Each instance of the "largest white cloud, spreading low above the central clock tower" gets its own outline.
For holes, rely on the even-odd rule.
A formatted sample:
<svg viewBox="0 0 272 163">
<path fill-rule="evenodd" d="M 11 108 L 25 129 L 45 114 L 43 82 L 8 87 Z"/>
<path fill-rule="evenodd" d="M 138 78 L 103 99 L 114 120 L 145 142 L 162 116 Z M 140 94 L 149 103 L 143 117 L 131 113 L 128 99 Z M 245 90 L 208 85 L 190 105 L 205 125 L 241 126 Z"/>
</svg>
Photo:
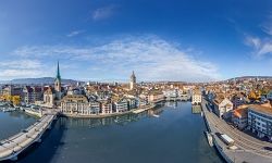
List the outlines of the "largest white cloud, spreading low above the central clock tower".
<svg viewBox="0 0 272 163">
<path fill-rule="evenodd" d="M 183 50 L 175 42 L 148 35 L 123 37 L 101 46 L 22 47 L 13 54 L 41 60 L 61 57 L 62 61 L 77 63 L 77 77 L 81 78 L 107 78 L 112 74 L 124 78 L 133 70 L 143 80 L 201 82 L 221 77 L 214 64 L 196 58 L 193 52 L 191 49 Z M 91 71 L 86 73 L 87 70 Z"/>
</svg>

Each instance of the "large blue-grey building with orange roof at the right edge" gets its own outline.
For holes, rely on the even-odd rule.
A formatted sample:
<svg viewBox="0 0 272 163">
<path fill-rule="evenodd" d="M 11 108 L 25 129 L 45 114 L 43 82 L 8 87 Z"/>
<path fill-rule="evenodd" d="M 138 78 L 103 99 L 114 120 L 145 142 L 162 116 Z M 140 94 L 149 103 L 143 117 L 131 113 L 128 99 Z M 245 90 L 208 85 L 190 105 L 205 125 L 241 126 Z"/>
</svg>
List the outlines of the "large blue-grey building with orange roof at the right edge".
<svg viewBox="0 0 272 163">
<path fill-rule="evenodd" d="M 268 137 L 272 141 L 272 108 L 250 105 L 248 108 L 248 128 L 258 137 Z"/>
</svg>

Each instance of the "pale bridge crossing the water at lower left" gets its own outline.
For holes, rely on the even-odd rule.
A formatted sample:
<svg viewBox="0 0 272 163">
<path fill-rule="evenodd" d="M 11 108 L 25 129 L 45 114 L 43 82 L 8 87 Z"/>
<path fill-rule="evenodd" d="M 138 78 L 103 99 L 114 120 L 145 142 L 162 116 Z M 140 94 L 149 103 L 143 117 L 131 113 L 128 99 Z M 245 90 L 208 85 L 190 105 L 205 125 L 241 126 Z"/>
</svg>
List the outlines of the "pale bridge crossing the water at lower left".
<svg viewBox="0 0 272 163">
<path fill-rule="evenodd" d="M 57 114 L 45 114 L 21 133 L 0 141 L 0 161 L 17 160 L 17 155 L 35 142 L 41 142 L 42 134 L 51 127 Z"/>
</svg>

